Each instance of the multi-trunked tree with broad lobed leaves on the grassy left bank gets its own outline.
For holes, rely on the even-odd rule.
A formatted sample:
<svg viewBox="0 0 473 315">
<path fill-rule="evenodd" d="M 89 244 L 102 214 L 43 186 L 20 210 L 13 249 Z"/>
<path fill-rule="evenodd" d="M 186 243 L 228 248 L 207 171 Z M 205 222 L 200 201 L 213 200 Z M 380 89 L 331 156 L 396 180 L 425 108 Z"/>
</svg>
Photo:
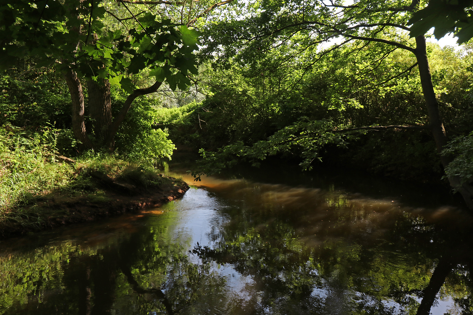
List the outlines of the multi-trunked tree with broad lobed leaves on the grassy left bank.
<svg viewBox="0 0 473 315">
<path fill-rule="evenodd" d="M 198 73 L 194 51 L 199 49 L 199 33 L 189 27 L 210 10 L 231 1 L 216 3 L 203 12 L 192 11 L 193 1 L 189 1 L 186 23 L 175 23 L 161 16 L 159 10 L 152 14 L 147 7 L 138 13 L 136 8 L 129 8 L 139 4 L 169 5 L 167 1 L 9 2 L 0 3 L 0 25 L 3 26 L 0 29 L 0 67 L 11 66 L 16 56 L 29 55 L 34 56 L 39 66 L 59 68 L 71 95 L 74 136 L 84 149 L 105 146 L 113 150 L 114 135 L 138 96 L 156 92 L 164 81 L 172 90 L 185 89 L 190 84 L 188 74 Z M 176 2 L 178 4 L 182 5 L 183 13 L 186 1 Z M 118 17 L 123 12 L 128 16 Z M 110 17 L 117 22 L 114 27 L 104 24 Z M 117 27 L 119 23 L 128 34 Z M 135 88 L 131 78 L 144 69 L 149 70 L 150 77 L 155 77 L 154 83 Z M 95 144 L 85 126 L 81 78 L 87 81 Z M 110 85 L 119 85 L 129 93 L 113 119 Z"/>
</svg>

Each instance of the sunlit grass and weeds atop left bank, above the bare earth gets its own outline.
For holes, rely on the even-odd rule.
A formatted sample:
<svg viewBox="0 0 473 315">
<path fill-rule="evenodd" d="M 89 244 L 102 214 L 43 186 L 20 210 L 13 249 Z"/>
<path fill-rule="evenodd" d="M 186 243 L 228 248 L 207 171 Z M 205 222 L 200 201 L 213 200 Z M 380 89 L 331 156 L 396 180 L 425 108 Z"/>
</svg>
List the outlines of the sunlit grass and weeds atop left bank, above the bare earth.
<svg viewBox="0 0 473 315">
<path fill-rule="evenodd" d="M 0 134 L 0 222 L 39 224 L 39 217 L 31 218 L 33 213 L 28 209 L 48 196 L 88 195 L 92 202 L 106 201 L 103 188 L 89 175 L 91 170 L 141 188 L 166 189 L 175 181 L 150 165 L 110 154 L 89 152 L 71 165 L 56 162 L 44 143 L 44 135 L 25 138 L 12 132 Z"/>
</svg>

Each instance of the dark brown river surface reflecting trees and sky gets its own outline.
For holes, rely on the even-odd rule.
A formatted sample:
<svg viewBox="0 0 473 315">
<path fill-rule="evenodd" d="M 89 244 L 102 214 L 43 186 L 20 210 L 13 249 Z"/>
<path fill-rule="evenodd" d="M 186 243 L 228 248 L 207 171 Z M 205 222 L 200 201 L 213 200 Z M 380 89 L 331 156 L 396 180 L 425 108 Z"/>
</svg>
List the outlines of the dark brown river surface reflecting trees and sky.
<svg viewBox="0 0 473 315">
<path fill-rule="evenodd" d="M 160 208 L 1 241 L 0 314 L 473 312 L 473 220 L 441 187 L 183 170 Z"/>
</svg>

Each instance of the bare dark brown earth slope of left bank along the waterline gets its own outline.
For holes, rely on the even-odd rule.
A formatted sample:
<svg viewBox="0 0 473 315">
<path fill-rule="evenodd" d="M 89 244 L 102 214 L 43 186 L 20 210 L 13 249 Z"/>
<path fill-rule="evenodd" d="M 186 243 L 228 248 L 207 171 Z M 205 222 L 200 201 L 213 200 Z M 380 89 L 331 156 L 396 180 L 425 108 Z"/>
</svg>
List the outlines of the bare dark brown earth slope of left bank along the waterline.
<svg viewBox="0 0 473 315">
<path fill-rule="evenodd" d="M 99 196 L 94 193 L 79 196 L 61 194 L 48 196 L 27 208 L 18 218 L 0 221 L 0 238 L 158 207 L 181 198 L 188 189 L 189 186 L 182 182 L 166 189 L 156 187 L 153 190 L 141 190 L 134 195 L 105 189 Z"/>
</svg>

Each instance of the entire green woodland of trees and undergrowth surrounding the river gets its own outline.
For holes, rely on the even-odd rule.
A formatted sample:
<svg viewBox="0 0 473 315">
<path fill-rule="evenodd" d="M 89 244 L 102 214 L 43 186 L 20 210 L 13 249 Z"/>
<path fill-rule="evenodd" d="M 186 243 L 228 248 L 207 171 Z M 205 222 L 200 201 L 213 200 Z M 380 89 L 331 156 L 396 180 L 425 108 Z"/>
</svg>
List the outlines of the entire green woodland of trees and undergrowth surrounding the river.
<svg viewBox="0 0 473 315">
<path fill-rule="evenodd" d="M 1 216 L 95 189 L 90 170 L 152 182 L 175 145 L 200 151 L 197 178 L 276 155 L 440 183 L 471 207 L 469 5 L 2 1 Z M 432 26 L 463 46 L 426 43 Z"/>
</svg>

